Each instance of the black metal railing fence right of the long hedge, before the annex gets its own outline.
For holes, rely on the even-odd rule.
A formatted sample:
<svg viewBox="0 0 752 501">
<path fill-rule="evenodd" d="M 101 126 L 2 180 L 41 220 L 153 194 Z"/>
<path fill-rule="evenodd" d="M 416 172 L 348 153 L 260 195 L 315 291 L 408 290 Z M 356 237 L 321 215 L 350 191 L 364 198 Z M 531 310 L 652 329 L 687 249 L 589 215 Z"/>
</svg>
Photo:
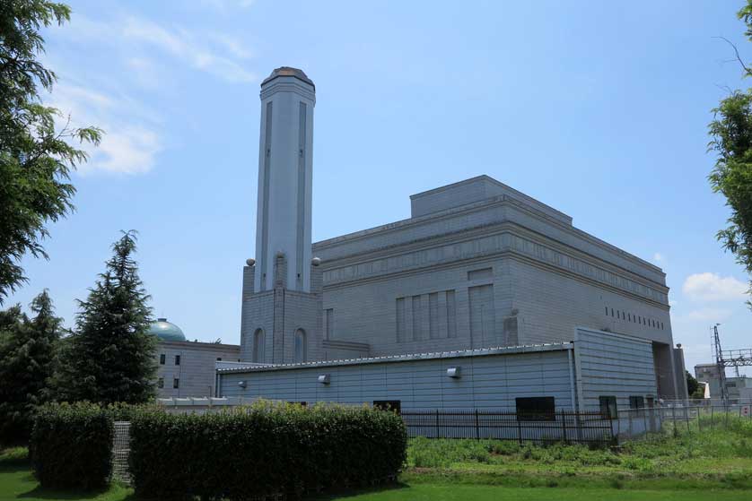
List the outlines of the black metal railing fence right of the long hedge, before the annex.
<svg viewBox="0 0 752 501">
<path fill-rule="evenodd" d="M 523 442 L 605 445 L 615 440 L 613 420 L 600 412 L 560 410 L 518 414 L 503 410 L 403 410 L 408 436 L 494 438 Z"/>
</svg>

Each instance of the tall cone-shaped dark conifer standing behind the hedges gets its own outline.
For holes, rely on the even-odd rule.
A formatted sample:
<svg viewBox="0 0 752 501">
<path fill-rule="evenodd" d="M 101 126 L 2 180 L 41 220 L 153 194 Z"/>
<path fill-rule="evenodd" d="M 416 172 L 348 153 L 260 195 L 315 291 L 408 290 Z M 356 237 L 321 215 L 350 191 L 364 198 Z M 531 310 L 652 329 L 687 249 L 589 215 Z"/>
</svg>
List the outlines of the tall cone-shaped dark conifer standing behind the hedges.
<svg viewBox="0 0 752 501">
<path fill-rule="evenodd" d="M 136 235 L 124 232 L 106 271 L 89 289 L 75 332 L 61 342 L 53 391 L 58 401 L 148 402 L 154 397 L 156 340 L 138 265 Z"/>
</svg>

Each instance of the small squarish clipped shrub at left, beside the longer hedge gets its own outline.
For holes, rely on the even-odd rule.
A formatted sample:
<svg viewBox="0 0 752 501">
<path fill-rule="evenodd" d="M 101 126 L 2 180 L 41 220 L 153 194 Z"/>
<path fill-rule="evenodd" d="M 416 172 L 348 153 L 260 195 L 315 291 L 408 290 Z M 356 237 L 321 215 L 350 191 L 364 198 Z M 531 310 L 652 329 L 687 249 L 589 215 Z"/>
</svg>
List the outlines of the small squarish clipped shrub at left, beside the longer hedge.
<svg viewBox="0 0 752 501">
<path fill-rule="evenodd" d="M 48 488 L 100 488 L 112 470 L 112 419 L 91 403 L 39 408 L 31 431 L 31 465 Z"/>
</svg>

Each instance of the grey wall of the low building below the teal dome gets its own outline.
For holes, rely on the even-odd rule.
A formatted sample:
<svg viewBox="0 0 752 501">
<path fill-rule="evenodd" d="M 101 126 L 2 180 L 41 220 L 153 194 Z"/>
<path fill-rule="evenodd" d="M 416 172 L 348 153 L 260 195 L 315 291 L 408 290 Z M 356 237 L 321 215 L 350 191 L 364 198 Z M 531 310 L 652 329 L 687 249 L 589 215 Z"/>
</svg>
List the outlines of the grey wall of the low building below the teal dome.
<svg viewBox="0 0 752 501">
<path fill-rule="evenodd" d="M 164 355 L 164 365 L 160 356 Z M 175 357 L 180 356 L 180 365 Z M 155 353 L 157 379 L 164 381 L 157 388 L 159 398 L 211 397 L 214 396 L 217 358 L 225 361 L 240 359 L 240 347 L 232 344 L 215 344 L 191 341 L 160 341 Z M 173 380 L 179 379 L 179 388 L 173 388 Z"/>
</svg>

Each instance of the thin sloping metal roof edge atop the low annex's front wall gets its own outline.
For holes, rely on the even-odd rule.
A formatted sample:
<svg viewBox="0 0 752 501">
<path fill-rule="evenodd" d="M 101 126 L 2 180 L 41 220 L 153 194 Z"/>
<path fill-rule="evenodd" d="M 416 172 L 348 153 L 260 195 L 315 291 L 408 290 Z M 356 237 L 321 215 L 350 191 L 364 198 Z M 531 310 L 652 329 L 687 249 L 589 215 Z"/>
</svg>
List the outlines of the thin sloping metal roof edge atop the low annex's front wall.
<svg viewBox="0 0 752 501">
<path fill-rule="evenodd" d="M 520 353 L 537 353 L 541 351 L 572 350 L 572 342 L 557 342 L 548 344 L 529 344 L 525 346 L 501 346 L 498 348 L 480 348 L 477 350 L 436 351 L 432 353 L 407 353 L 404 355 L 387 355 L 383 357 L 344 358 L 340 360 L 319 360 L 317 362 L 301 362 L 295 364 L 272 364 L 266 367 L 233 367 L 217 369 L 218 373 L 246 373 L 266 372 L 270 370 L 289 370 L 308 367 L 337 367 L 363 364 L 382 364 L 387 362 L 409 362 L 434 358 L 465 358 L 484 357 L 487 355 L 515 355 Z"/>
</svg>

